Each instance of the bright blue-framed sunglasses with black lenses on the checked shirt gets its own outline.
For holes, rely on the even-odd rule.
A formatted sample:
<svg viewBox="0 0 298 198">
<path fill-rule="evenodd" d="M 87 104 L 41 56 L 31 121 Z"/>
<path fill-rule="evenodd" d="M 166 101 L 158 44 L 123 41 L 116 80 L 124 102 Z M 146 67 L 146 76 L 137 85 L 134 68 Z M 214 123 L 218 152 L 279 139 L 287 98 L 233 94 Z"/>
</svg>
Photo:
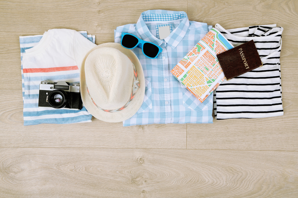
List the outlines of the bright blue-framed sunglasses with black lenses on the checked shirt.
<svg viewBox="0 0 298 198">
<path fill-rule="evenodd" d="M 128 33 L 122 33 L 121 45 L 127 49 L 140 47 L 143 54 L 148 58 L 156 58 L 162 52 L 162 48 L 154 43 L 144 41 Z"/>
</svg>

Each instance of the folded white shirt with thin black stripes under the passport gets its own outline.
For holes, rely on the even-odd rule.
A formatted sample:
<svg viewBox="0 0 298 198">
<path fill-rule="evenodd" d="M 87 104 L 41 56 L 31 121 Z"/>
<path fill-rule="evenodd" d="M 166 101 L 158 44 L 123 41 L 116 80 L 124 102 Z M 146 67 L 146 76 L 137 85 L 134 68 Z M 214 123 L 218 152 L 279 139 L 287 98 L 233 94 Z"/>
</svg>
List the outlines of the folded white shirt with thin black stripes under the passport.
<svg viewBox="0 0 298 198">
<path fill-rule="evenodd" d="M 214 91 L 216 119 L 265 118 L 283 115 L 280 49 L 282 27 L 249 26 L 226 30 L 217 28 L 234 47 L 254 40 L 263 66 L 224 80 Z"/>
</svg>

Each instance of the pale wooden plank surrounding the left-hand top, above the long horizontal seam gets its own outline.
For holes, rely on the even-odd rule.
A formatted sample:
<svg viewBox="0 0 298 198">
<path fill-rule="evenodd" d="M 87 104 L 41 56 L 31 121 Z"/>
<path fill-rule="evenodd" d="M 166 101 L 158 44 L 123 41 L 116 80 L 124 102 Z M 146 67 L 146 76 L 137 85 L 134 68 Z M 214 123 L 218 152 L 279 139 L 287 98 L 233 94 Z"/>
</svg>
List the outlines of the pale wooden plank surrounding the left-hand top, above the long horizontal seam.
<svg viewBox="0 0 298 198">
<path fill-rule="evenodd" d="M 75 125 L 23 126 L 18 39 L 43 34 L 52 28 L 70 28 L 96 35 L 96 44 L 113 42 L 114 29 L 136 23 L 141 12 L 154 9 L 156 5 L 159 9 L 187 11 L 187 4 L 180 6 L 182 2 L 1 1 L 0 128 L 3 141 L 0 147 L 186 148 L 186 124 L 123 128 L 122 123 L 105 123 L 93 118 L 92 123 Z"/>
</svg>

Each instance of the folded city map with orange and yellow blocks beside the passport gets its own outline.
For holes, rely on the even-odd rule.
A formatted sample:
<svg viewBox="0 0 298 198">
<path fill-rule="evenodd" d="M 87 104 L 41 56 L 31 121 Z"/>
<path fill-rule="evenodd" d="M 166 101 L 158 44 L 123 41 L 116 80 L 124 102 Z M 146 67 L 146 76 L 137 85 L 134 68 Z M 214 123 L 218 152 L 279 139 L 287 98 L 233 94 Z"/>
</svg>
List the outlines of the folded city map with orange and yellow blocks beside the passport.
<svg viewBox="0 0 298 198">
<path fill-rule="evenodd" d="M 171 73 L 203 102 L 226 79 L 216 55 L 232 48 L 233 45 L 212 28 Z"/>
</svg>

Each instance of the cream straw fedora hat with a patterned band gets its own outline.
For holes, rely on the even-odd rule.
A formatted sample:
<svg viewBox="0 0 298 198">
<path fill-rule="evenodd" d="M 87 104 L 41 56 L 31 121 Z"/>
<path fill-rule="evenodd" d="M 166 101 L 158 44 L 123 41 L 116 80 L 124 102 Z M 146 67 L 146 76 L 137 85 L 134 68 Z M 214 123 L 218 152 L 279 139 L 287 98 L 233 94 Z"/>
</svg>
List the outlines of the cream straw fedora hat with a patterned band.
<svg viewBox="0 0 298 198">
<path fill-rule="evenodd" d="M 131 118 L 145 94 L 142 65 L 119 43 L 103 43 L 85 56 L 80 71 L 81 97 L 86 109 L 105 122 Z"/>
</svg>

